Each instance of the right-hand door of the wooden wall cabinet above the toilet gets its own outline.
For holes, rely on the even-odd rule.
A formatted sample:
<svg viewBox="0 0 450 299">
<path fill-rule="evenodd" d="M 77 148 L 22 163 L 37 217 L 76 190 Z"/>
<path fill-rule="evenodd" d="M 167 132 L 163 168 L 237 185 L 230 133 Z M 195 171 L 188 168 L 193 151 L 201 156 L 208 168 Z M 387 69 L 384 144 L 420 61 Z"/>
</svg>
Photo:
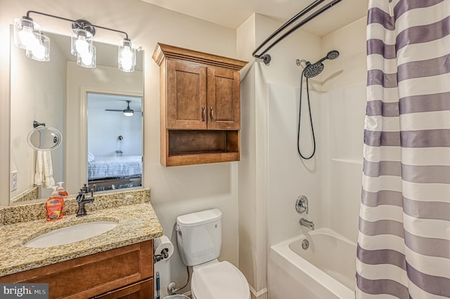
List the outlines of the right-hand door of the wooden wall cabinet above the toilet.
<svg viewBox="0 0 450 299">
<path fill-rule="evenodd" d="M 240 129 L 240 75 L 238 71 L 208 67 L 208 128 Z"/>
</svg>

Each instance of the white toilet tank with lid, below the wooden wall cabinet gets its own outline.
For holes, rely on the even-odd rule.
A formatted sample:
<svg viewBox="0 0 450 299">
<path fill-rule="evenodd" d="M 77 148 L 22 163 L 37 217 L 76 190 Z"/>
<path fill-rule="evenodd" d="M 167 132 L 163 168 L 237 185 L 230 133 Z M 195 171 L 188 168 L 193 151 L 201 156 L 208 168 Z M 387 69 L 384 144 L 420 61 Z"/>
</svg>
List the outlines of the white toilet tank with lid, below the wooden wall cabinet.
<svg viewBox="0 0 450 299">
<path fill-rule="evenodd" d="M 222 213 L 218 208 L 176 218 L 176 241 L 186 266 L 200 265 L 220 255 Z"/>
</svg>

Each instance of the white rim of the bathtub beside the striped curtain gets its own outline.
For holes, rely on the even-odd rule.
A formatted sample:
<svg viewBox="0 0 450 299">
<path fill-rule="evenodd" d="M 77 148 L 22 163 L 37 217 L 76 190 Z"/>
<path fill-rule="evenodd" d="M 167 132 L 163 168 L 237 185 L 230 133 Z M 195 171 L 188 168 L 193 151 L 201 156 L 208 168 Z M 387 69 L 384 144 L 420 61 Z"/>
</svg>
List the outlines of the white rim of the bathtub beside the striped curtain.
<svg viewBox="0 0 450 299">
<path fill-rule="evenodd" d="M 330 236 L 336 237 L 337 239 L 342 239 L 342 241 L 348 242 L 349 244 L 356 244 L 349 239 L 343 237 L 342 235 L 338 234 L 337 232 L 334 232 L 333 230 L 330 230 L 328 228 L 319 228 L 317 230 L 314 230 L 310 232 L 310 235 L 314 234 L 328 234 Z M 300 257 L 300 255 L 297 255 L 297 253 L 293 252 L 289 248 L 289 244 L 293 243 L 294 241 L 298 241 L 301 239 L 306 238 L 304 234 L 300 234 L 297 237 L 293 237 L 290 239 L 287 239 L 285 241 L 281 241 L 278 244 L 275 244 L 274 246 L 271 246 L 271 251 L 274 251 L 278 253 L 278 255 L 281 255 L 285 259 L 286 262 L 293 265 L 293 267 L 297 268 L 298 270 L 306 273 L 311 279 L 317 282 L 317 284 L 320 284 L 323 288 L 326 288 L 330 293 L 333 293 L 337 296 L 337 298 L 347 299 L 347 298 L 354 298 L 354 291 L 352 291 L 350 288 L 347 288 L 347 286 L 341 284 L 339 281 L 334 279 L 333 277 L 330 277 L 330 275 L 326 274 L 326 272 L 323 272 L 318 267 L 314 266 L 313 264 L 309 263 L 304 258 Z M 356 259 L 356 256 L 355 256 Z M 292 261 L 292 262 L 290 262 Z M 356 272 L 356 270 L 355 270 Z M 313 290 L 316 291 L 316 290 Z"/>
</svg>

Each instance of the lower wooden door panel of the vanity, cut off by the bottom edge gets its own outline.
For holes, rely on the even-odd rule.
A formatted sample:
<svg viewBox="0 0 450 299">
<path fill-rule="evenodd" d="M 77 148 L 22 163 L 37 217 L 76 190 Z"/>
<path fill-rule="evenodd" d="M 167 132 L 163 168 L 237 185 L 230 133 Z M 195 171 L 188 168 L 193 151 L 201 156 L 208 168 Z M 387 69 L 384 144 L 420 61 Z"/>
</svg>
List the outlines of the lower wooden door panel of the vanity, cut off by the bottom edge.
<svg viewBox="0 0 450 299">
<path fill-rule="evenodd" d="M 97 295 L 94 299 L 151 299 L 153 298 L 153 279 L 147 279 L 131 286 Z"/>
</svg>

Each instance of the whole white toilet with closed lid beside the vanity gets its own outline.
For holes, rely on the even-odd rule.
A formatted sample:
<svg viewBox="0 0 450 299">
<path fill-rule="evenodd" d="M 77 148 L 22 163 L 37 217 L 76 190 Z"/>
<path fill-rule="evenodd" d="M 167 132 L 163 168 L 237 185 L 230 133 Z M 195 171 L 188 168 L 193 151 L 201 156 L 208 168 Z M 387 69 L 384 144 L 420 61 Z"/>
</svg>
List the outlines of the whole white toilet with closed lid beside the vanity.
<svg viewBox="0 0 450 299">
<path fill-rule="evenodd" d="M 219 262 L 222 213 L 218 208 L 176 218 L 181 260 L 193 266 L 193 299 L 250 299 L 247 279 L 233 264 Z"/>
</svg>

